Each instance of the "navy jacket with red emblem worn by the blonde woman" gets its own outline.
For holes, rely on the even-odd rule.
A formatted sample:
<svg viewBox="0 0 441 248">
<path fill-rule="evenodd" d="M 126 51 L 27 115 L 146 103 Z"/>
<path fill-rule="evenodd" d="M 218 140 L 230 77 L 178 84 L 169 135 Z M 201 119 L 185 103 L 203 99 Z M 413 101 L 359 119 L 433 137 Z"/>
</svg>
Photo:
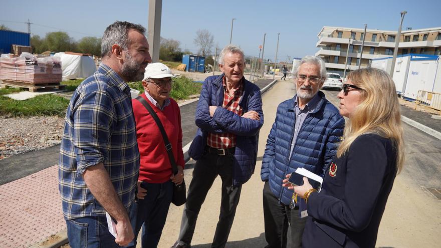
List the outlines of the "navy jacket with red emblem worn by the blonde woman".
<svg viewBox="0 0 441 248">
<path fill-rule="evenodd" d="M 396 175 L 391 140 L 364 134 L 334 158 L 320 193 L 308 198 L 304 247 L 375 247 Z"/>
</svg>

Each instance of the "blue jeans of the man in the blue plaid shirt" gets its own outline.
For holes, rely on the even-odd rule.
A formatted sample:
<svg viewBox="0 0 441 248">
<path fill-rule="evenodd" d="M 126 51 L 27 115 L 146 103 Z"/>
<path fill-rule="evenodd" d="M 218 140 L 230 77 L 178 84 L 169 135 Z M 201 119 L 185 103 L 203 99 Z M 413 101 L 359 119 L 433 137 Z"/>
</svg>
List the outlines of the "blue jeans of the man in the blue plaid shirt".
<svg viewBox="0 0 441 248">
<path fill-rule="evenodd" d="M 110 234 L 105 216 L 87 216 L 66 220 L 67 236 L 72 248 L 120 247 Z"/>
</svg>

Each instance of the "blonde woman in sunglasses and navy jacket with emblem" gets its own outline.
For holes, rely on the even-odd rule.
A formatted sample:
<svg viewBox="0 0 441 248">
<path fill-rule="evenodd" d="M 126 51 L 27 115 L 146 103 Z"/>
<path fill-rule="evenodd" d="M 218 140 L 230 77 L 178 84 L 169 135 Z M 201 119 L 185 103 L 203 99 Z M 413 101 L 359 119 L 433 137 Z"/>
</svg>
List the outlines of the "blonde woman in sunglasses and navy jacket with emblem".
<svg viewBox="0 0 441 248">
<path fill-rule="evenodd" d="M 320 192 L 304 178 L 294 189 L 307 202 L 304 247 L 374 247 L 395 176 L 404 160 L 398 99 L 384 71 L 366 68 L 348 75 L 337 95 L 348 117 L 337 155 Z"/>
</svg>

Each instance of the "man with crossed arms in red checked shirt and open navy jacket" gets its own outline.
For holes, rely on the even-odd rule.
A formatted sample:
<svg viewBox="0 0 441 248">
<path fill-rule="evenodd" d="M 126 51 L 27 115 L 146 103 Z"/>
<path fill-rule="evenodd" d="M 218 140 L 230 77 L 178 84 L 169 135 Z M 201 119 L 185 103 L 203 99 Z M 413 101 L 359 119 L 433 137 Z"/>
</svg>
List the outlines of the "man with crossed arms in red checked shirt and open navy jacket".
<svg viewBox="0 0 441 248">
<path fill-rule="evenodd" d="M 196 109 L 199 129 L 189 155 L 197 161 L 175 248 L 190 247 L 197 215 L 217 175 L 222 179 L 222 202 L 211 247 L 225 247 L 242 184 L 256 165 L 264 123 L 260 89 L 244 77 L 245 57 L 240 48 L 225 47 L 219 67 L 223 74 L 205 79 Z"/>
</svg>

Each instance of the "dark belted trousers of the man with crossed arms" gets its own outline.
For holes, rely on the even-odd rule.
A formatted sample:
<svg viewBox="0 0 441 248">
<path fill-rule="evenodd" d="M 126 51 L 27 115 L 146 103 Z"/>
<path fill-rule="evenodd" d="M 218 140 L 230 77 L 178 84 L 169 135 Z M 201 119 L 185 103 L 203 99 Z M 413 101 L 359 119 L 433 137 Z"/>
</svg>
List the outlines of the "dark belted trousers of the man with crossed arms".
<svg viewBox="0 0 441 248">
<path fill-rule="evenodd" d="M 217 222 L 211 247 L 225 247 L 242 189 L 242 185 L 233 186 L 234 159 L 233 155 L 230 154 L 220 156 L 205 153 L 196 161 L 193 179 L 188 188 L 187 202 L 182 213 L 178 239 L 181 245 L 190 245 L 200 207 L 208 190 L 213 185 L 214 179 L 219 175 L 222 179 L 222 200 L 220 202 L 219 221 Z"/>
</svg>

